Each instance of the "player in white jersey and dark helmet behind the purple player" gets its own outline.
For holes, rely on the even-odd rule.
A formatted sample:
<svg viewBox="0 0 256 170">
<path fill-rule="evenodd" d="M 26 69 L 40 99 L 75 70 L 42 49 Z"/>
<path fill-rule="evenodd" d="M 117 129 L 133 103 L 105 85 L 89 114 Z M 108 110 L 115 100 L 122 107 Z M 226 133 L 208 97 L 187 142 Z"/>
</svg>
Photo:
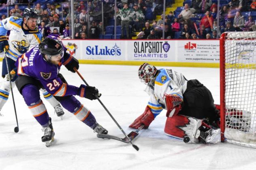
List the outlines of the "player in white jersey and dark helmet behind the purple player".
<svg viewBox="0 0 256 170">
<path fill-rule="evenodd" d="M 3 52 L 4 48 L 6 49 L 10 72 L 15 68 L 14 64 L 18 56 L 41 42 L 43 37 L 37 28 L 38 23 L 40 23 L 39 14 L 32 8 L 25 8 L 23 18 L 9 17 L 0 21 L 0 52 Z M 10 30 L 9 38 L 6 36 L 8 30 Z M 2 77 L 4 81 L 0 85 L 0 110 L 8 100 L 11 91 L 6 75 L 8 75 L 6 60 L 3 60 Z M 12 82 L 12 87 L 15 87 L 14 82 Z M 62 116 L 64 112 L 60 103 L 45 89 L 41 89 L 41 91 L 45 99 L 54 107 L 57 116 Z"/>
</svg>

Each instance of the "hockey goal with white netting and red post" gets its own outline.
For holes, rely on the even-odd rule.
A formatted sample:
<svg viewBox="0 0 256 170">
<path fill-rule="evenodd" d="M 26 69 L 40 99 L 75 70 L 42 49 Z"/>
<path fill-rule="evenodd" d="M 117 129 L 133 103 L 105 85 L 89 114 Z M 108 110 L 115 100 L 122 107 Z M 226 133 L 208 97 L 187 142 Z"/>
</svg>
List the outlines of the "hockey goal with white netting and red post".
<svg viewBox="0 0 256 170">
<path fill-rule="evenodd" d="M 220 38 L 221 140 L 256 147 L 256 32 Z"/>
</svg>

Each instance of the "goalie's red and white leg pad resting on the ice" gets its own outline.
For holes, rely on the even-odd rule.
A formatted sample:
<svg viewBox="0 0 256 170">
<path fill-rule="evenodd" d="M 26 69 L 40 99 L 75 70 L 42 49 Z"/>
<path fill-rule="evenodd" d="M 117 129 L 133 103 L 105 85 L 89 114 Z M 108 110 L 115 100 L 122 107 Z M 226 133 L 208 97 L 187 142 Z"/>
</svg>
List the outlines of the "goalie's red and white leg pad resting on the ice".
<svg viewBox="0 0 256 170">
<path fill-rule="evenodd" d="M 193 117 L 176 115 L 173 117 L 168 117 L 166 119 L 164 133 L 166 135 L 177 137 L 183 139 L 189 137 L 190 142 L 198 143 L 198 137 L 200 131 L 198 128 L 202 125 L 201 119 L 196 119 Z"/>
</svg>

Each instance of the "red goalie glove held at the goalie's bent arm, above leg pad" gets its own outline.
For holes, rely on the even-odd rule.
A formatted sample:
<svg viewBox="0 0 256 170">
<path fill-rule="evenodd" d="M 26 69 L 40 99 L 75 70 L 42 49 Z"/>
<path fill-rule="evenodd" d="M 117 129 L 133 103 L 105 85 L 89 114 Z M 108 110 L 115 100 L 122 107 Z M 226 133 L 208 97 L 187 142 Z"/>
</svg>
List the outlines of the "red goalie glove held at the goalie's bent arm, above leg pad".
<svg viewBox="0 0 256 170">
<path fill-rule="evenodd" d="M 181 110 L 181 97 L 177 95 L 165 94 L 165 103 L 167 107 L 166 117 L 173 117 Z"/>
</svg>

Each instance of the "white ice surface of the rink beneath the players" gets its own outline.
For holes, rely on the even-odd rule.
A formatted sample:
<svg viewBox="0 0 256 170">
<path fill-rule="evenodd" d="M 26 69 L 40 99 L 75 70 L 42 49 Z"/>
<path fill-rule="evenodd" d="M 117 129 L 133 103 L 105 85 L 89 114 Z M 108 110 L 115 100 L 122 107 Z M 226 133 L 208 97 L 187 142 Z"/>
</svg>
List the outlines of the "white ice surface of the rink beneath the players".
<svg viewBox="0 0 256 170">
<path fill-rule="evenodd" d="M 2 62 L 0 66 L 2 68 Z M 80 64 L 79 68 L 87 83 L 102 93 L 100 100 L 127 134 L 131 131 L 128 126 L 144 112 L 149 99 L 144 91 L 146 85 L 137 76 L 138 69 L 139 66 L 87 64 Z M 215 103 L 220 103 L 219 68 L 172 69 L 183 73 L 186 79 L 198 79 L 212 92 Z M 83 83 L 76 73 L 64 66 L 60 73 L 71 85 L 79 87 Z M 67 110 L 60 120 L 43 99 L 56 139 L 51 147 L 45 147 L 41 142 L 41 126 L 16 87 L 14 97 L 19 133 L 14 132 L 16 120 L 10 95 L 0 111 L 4 115 L 0 117 L 0 170 L 254 170 L 256 167 L 256 149 L 230 143 L 186 144 L 165 135 L 165 110 L 149 129 L 139 132 L 133 141 L 139 147 L 136 151 L 129 143 L 97 138 L 92 129 Z M 124 137 L 97 100 L 79 96 L 77 99 L 91 110 L 109 134 Z"/>
</svg>

